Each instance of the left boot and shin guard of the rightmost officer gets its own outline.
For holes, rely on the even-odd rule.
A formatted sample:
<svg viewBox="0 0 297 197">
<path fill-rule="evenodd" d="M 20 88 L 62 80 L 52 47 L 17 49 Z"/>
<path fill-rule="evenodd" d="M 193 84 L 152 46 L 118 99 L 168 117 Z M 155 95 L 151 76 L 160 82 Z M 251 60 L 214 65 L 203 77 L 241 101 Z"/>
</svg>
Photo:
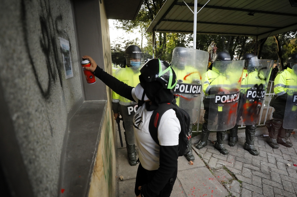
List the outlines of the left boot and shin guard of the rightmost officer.
<svg viewBox="0 0 297 197">
<path fill-rule="evenodd" d="M 272 148 L 279 148 L 279 145 L 277 144 L 277 135 L 280 127 L 282 126 L 282 121 L 277 120 L 268 120 L 265 122 L 265 126 L 268 129 L 269 136 L 267 137 L 267 143 Z"/>
</svg>

